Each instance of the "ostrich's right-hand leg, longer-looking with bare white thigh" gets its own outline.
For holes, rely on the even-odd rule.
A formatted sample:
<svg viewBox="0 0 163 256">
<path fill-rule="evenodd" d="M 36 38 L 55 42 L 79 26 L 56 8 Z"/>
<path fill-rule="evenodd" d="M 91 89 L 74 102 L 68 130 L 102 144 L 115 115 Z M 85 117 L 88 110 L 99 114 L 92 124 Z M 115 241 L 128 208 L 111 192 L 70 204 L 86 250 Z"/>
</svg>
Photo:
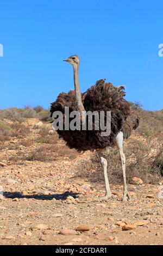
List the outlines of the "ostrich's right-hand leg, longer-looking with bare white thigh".
<svg viewBox="0 0 163 256">
<path fill-rule="evenodd" d="M 123 202 L 127 199 L 130 200 L 129 193 L 127 191 L 127 184 L 126 184 L 126 157 L 123 153 L 123 132 L 119 132 L 116 137 L 116 145 L 120 152 L 121 156 L 121 164 L 122 164 L 122 172 L 123 172 Z"/>
</svg>

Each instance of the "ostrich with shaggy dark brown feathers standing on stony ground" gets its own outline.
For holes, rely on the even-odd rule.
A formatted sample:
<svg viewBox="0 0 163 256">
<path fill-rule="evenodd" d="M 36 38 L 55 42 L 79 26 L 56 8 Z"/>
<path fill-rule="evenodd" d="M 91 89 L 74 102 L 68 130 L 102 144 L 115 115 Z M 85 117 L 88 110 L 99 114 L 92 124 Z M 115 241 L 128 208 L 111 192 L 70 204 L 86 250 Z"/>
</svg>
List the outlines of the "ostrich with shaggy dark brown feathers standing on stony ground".
<svg viewBox="0 0 163 256">
<path fill-rule="evenodd" d="M 126 182 L 126 157 L 123 153 L 123 139 L 127 139 L 132 130 L 139 126 L 139 117 L 130 109 L 129 102 L 123 99 L 125 95 L 124 86 L 115 87 L 111 83 L 105 83 L 105 79 L 98 80 L 95 86 L 81 93 L 79 87 L 79 57 L 73 55 L 64 60 L 73 67 L 74 90 L 69 93 L 60 93 L 57 100 L 51 103 L 51 115 L 55 111 L 61 111 L 65 116 L 65 107 L 70 112 L 78 111 L 82 117 L 82 123 L 86 121 L 85 111 L 111 111 L 111 132 L 109 136 L 101 136 L 101 131 L 89 130 L 57 130 L 68 147 L 78 151 L 96 151 L 101 162 L 105 179 L 105 196 L 100 200 L 107 200 L 111 197 L 110 185 L 107 174 L 106 154 L 111 147 L 116 145 L 122 165 L 123 173 L 123 201 L 130 200 Z M 64 119 L 65 120 L 65 119 Z"/>
</svg>

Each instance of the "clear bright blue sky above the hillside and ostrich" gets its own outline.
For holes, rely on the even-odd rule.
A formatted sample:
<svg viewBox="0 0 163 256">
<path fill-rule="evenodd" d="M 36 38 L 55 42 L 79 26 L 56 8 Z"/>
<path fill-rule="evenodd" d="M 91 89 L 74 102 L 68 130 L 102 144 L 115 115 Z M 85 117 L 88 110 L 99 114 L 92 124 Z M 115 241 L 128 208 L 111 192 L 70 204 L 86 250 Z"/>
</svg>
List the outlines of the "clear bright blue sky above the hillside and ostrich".
<svg viewBox="0 0 163 256">
<path fill-rule="evenodd" d="M 126 99 L 162 109 L 163 2 L 1 0 L 0 108 L 48 108 L 73 89 L 70 64 L 80 57 L 82 92 L 106 78 L 126 85 Z"/>
</svg>

